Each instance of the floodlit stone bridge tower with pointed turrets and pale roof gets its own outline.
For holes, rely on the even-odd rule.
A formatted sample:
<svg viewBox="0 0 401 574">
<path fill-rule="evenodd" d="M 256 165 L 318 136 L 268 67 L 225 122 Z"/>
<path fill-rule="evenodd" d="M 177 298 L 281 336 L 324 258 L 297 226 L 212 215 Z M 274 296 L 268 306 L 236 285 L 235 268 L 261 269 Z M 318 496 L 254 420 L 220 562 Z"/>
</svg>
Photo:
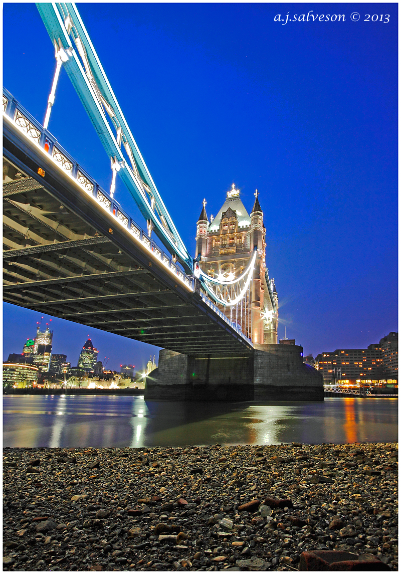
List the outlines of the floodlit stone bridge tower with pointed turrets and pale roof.
<svg viewBox="0 0 401 574">
<path fill-rule="evenodd" d="M 221 309 L 252 343 L 277 344 L 278 296 L 266 268 L 266 228 L 258 195 L 256 190 L 249 215 L 239 189 L 232 184 L 216 217 L 213 219 L 211 215 L 210 223 L 204 200 L 197 221 L 195 257 L 200 256 L 200 267 L 209 277 L 231 281 L 246 270 L 256 248 L 249 291 L 242 302 Z"/>
</svg>

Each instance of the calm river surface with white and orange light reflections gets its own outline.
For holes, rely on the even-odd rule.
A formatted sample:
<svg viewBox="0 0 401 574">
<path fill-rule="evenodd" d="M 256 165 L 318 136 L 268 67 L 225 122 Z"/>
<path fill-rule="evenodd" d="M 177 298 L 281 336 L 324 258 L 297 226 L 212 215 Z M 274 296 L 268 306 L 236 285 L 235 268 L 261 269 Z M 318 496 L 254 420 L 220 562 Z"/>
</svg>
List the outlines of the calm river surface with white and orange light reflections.
<svg viewBox="0 0 401 574">
<path fill-rule="evenodd" d="M 142 396 L 5 395 L 5 447 L 396 441 L 395 398 L 184 403 Z"/>
</svg>

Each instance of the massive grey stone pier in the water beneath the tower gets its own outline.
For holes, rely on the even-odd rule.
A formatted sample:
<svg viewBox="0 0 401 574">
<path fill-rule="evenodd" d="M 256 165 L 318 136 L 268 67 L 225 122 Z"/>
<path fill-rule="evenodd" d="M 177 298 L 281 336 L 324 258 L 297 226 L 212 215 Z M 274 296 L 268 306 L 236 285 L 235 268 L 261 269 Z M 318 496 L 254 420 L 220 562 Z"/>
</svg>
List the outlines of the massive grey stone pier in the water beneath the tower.
<svg viewBox="0 0 401 574">
<path fill-rule="evenodd" d="M 146 378 L 146 400 L 324 401 L 323 377 L 298 345 L 256 345 L 251 355 L 183 355 L 163 349 Z"/>
</svg>

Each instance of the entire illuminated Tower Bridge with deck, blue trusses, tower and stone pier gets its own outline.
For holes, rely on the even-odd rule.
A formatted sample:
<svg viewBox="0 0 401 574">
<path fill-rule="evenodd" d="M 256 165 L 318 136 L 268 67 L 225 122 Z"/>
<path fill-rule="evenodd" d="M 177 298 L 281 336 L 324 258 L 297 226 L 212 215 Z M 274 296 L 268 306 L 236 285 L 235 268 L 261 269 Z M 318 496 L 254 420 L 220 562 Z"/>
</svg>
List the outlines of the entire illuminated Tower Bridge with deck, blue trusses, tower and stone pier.
<svg viewBox="0 0 401 574">
<path fill-rule="evenodd" d="M 323 379 L 303 364 L 302 347 L 277 344 L 257 191 L 250 215 L 234 185 L 214 221 L 204 202 L 193 258 L 76 6 L 37 6 L 56 72 L 43 125 L 3 89 L 5 301 L 162 347 L 148 398 L 323 400 Z M 62 66 L 111 160 L 110 191 L 47 129 Z M 117 174 L 146 231 L 116 201 Z"/>
</svg>

